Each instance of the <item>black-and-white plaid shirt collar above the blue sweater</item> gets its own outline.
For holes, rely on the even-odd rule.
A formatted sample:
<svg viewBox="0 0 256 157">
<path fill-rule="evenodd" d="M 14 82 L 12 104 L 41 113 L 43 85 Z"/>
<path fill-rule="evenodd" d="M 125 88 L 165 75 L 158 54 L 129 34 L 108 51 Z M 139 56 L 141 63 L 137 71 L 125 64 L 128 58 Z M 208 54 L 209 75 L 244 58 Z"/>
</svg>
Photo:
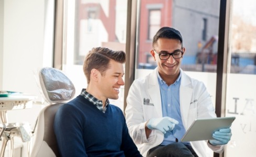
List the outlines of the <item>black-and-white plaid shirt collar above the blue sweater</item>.
<svg viewBox="0 0 256 157">
<path fill-rule="evenodd" d="M 109 100 L 106 100 L 105 108 L 103 108 L 103 104 L 101 100 L 98 100 L 96 97 L 94 97 L 92 94 L 86 92 L 86 89 L 82 89 L 81 95 L 89 100 L 91 103 L 93 103 L 99 110 L 101 110 L 103 113 L 107 110 L 107 107 L 109 105 Z"/>
</svg>

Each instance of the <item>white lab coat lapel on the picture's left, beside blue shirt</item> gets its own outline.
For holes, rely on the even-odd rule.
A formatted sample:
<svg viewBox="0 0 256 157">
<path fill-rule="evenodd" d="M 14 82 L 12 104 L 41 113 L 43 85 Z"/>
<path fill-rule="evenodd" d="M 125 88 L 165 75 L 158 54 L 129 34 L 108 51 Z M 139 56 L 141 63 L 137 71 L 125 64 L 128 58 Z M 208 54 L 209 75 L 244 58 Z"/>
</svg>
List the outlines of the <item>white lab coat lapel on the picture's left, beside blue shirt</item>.
<svg viewBox="0 0 256 157">
<path fill-rule="evenodd" d="M 150 100 L 152 101 L 152 103 L 154 104 L 154 109 L 155 111 L 157 111 L 156 116 L 158 117 L 162 117 L 162 105 L 161 105 L 161 94 L 160 94 L 160 88 L 159 88 L 159 84 L 158 84 L 158 76 L 157 76 L 158 70 L 157 68 L 154 69 L 154 71 L 150 74 L 152 76 L 150 76 L 149 78 L 149 88 L 148 88 L 148 92 L 149 92 L 149 96 L 150 96 Z M 153 111 L 153 113 L 155 113 L 155 111 Z"/>
</svg>

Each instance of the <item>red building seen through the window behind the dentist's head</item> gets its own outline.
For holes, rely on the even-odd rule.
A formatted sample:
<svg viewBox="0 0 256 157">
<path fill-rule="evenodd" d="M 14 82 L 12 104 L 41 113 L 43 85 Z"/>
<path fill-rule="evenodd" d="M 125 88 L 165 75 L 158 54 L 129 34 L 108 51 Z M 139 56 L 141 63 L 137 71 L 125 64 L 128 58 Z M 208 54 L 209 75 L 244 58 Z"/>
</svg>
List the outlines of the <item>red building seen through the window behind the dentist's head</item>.
<svg viewBox="0 0 256 157">
<path fill-rule="evenodd" d="M 169 20 L 163 20 L 162 15 L 171 15 L 171 9 L 167 9 L 164 4 L 169 4 L 170 1 L 138 1 L 140 3 L 139 9 L 139 47 L 137 67 L 140 69 L 153 69 L 150 50 L 152 48 L 152 39 L 154 34 L 162 25 L 170 26 L 171 16 L 167 16 Z M 147 28 L 147 29 L 146 29 Z"/>
</svg>

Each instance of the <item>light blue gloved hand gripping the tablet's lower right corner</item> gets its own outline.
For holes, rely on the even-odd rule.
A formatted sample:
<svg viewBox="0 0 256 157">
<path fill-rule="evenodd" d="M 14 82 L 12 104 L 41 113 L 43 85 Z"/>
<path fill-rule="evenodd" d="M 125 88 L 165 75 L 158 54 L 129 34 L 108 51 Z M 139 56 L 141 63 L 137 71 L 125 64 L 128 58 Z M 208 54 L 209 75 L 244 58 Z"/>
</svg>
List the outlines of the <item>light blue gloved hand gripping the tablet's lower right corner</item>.
<svg viewBox="0 0 256 157">
<path fill-rule="evenodd" d="M 219 131 L 215 131 L 213 133 L 213 138 L 215 140 L 209 140 L 212 145 L 224 145 L 227 144 L 231 139 L 232 133 L 231 129 L 220 129 Z"/>
</svg>

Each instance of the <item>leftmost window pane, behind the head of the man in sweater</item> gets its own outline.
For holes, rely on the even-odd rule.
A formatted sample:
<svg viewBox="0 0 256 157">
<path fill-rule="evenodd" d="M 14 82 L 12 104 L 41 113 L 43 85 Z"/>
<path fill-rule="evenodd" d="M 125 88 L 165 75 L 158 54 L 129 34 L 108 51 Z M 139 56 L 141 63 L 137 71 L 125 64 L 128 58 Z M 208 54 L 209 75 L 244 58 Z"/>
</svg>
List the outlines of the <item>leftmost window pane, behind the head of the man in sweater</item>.
<svg viewBox="0 0 256 157">
<path fill-rule="evenodd" d="M 87 86 L 82 65 L 88 51 L 93 47 L 125 51 L 127 1 L 64 2 L 63 71 L 73 81 L 78 95 Z M 119 99 L 110 103 L 123 108 L 124 86 L 120 89 Z"/>
</svg>

